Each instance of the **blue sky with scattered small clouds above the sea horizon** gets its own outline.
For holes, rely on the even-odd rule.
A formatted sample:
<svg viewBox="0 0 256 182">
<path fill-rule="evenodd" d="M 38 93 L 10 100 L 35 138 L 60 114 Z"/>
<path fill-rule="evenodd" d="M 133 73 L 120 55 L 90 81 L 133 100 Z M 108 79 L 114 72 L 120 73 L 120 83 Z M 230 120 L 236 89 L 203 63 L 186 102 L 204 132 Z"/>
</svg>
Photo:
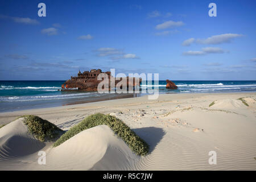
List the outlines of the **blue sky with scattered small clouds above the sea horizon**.
<svg viewBox="0 0 256 182">
<path fill-rule="evenodd" d="M 2 0 L 0 40 L 0 80 L 66 80 L 98 68 L 256 80 L 256 1 Z"/>
</svg>

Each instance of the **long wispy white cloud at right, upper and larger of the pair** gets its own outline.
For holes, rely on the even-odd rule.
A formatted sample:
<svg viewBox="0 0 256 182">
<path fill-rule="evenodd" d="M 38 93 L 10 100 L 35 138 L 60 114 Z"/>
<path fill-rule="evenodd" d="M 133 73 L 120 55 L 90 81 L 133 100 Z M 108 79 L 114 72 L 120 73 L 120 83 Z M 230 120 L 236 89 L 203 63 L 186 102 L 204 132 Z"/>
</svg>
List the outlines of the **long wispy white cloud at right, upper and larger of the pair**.
<svg viewBox="0 0 256 182">
<path fill-rule="evenodd" d="M 234 38 L 243 36 L 241 34 L 221 34 L 213 35 L 207 39 L 197 39 L 197 43 L 200 44 L 221 44 L 221 43 L 230 43 Z"/>
</svg>

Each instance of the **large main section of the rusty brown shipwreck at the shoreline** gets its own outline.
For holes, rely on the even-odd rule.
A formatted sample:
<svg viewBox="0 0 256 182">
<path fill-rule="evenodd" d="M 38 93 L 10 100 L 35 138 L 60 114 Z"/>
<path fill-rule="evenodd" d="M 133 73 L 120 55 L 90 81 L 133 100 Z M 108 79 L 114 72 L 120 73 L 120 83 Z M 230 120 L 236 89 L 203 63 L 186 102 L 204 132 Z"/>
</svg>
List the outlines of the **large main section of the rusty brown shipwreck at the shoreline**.
<svg viewBox="0 0 256 182">
<path fill-rule="evenodd" d="M 98 75 L 101 73 L 105 73 L 108 75 L 109 78 L 109 90 L 110 88 L 110 79 L 115 80 L 115 86 L 119 81 L 122 81 L 123 78 L 114 78 L 111 75 L 111 72 L 102 72 L 101 69 L 92 69 L 89 71 L 84 71 L 77 73 L 77 77 L 71 76 L 71 78 L 67 81 L 64 82 L 64 84 L 61 85 L 61 91 L 87 91 L 87 92 L 92 92 L 92 91 L 97 91 L 98 84 L 102 80 L 97 80 Z M 127 80 L 127 89 L 129 87 L 135 87 L 141 85 L 142 79 L 141 78 L 129 78 L 125 77 Z M 132 80 L 129 81 L 129 80 Z"/>
</svg>

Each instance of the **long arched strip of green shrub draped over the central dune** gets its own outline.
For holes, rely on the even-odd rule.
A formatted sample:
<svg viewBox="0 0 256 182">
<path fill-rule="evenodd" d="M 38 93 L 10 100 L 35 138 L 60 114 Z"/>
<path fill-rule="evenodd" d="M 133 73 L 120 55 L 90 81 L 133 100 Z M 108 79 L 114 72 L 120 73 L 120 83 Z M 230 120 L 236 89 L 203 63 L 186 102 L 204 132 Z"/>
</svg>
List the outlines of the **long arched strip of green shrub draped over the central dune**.
<svg viewBox="0 0 256 182">
<path fill-rule="evenodd" d="M 109 126 L 110 129 L 112 129 L 114 133 L 118 135 L 118 137 L 120 137 L 126 142 L 130 149 L 133 152 L 135 152 L 135 154 L 148 154 L 148 144 L 143 139 L 141 139 L 137 134 L 135 134 L 134 131 L 132 131 L 130 127 L 127 126 L 121 119 L 118 119 L 109 114 L 105 115 L 100 113 L 89 115 L 82 122 L 80 122 L 76 126 L 73 126 L 65 134 L 61 135 L 61 137 L 53 144 L 53 147 L 59 146 L 61 143 L 65 142 L 66 140 L 75 136 L 81 131 L 90 129 L 98 125 Z"/>
</svg>

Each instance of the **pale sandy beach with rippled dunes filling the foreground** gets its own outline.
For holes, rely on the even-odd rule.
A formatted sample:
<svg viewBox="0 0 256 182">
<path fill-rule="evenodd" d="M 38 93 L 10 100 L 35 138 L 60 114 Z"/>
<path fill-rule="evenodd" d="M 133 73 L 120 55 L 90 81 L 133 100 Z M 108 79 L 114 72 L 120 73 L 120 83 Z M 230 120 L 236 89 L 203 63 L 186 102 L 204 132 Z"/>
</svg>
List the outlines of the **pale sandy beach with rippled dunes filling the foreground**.
<svg viewBox="0 0 256 182">
<path fill-rule="evenodd" d="M 0 170 L 255 170 L 255 99 L 256 93 L 162 94 L 0 113 L 0 124 L 9 123 L 0 129 Z M 150 145 L 149 154 L 135 155 L 106 125 L 52 147 L 28 134 L 23 118 L 15 120 L 34 114 L 69 130 L 94 113 L 122 119 Z M 46 151 L 46 165 L 38 164 L 38 151 Z M 208 163 L 209 151 L 216 165 Z"/>
</svg>

